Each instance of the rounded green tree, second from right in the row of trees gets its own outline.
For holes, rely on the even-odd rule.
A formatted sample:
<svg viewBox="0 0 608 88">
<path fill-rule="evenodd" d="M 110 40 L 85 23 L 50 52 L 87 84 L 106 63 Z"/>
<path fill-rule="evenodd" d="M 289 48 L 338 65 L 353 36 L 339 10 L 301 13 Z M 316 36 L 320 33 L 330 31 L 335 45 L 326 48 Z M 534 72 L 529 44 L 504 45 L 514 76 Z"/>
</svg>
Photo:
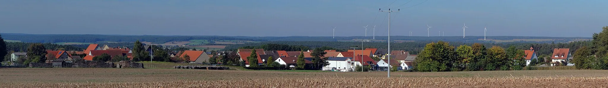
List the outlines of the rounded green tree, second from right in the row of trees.
<svg viewBox="0 0 608 88">
<path fill-rule="evenodd" d="M 507 58 L 505 50 L 499 46 L 492 46 L 488 49 L 488 56 L 486 59 L 488 63 L 486 63 L 485 70 L 497 70 L 500 67 L 509 68 L 511 62 L 513 62 L 512 58 Z"/>
</svg>

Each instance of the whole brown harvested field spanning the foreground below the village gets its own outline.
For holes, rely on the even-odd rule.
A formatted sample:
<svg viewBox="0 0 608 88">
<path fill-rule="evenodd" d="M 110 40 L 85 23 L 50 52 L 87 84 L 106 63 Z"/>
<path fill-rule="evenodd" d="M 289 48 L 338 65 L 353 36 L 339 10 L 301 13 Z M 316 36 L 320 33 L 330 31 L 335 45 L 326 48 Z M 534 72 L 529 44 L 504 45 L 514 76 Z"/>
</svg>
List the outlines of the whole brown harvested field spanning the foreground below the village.
<svg viewBox="0 0 608 88">
<path fill-rule="evenodd" d="M 0 69 L 0 87 L 608 87 L 608 70 L 278 72 L 196 69 Z"/>
</svg>

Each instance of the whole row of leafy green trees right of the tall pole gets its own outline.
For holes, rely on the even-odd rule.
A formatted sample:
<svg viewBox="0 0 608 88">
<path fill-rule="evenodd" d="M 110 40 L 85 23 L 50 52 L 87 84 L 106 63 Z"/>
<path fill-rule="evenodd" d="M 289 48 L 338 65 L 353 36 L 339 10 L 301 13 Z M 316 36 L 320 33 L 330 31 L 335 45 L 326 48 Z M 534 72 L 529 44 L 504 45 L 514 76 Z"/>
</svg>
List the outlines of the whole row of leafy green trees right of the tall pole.
<svg viewBox="0 0 608 88">
<path fill-rule="evenodd" d="M 506 51 L 499 46 L 489 49 L 483 44 L 461 45 L 455 48 L 447 42 L 432 42 L 416 58 L 414 70 L 420 72 L 523 70 L 527 64 L 523 50 L 511 46 Z"/>
</svg>

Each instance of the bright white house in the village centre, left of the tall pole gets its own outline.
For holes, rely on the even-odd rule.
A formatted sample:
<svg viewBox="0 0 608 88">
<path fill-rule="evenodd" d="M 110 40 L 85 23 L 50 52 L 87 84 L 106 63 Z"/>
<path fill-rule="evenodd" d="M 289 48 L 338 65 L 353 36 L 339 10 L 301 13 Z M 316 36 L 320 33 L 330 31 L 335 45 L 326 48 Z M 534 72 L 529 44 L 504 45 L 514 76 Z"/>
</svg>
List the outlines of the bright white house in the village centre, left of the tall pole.
<svg viewBox="0 0 608 88">
<path fill-rule="evenodd" d="M 323 67 L 321 70 L 333 70 L 339 72 L 348 72 L 351 69 L 350 62 L 353 58 L 351 57 L 328 57 L 327 62 L 329 65 Z"/>
</svg>

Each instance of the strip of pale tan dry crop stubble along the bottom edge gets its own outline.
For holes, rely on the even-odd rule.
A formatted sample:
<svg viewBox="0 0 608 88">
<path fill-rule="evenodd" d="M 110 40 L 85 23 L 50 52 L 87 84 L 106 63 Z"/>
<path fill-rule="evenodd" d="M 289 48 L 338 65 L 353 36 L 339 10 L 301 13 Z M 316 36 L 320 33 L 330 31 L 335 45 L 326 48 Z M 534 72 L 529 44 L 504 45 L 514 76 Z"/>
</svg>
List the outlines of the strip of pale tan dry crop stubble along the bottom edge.
<svg viewBox="0 0 608 88">
<path fill-rule="evenodd" d="M 1 83 L 0 87 L 608 87 L 606 77 L 276 78 L 150 83 Z"/>
</svg>

